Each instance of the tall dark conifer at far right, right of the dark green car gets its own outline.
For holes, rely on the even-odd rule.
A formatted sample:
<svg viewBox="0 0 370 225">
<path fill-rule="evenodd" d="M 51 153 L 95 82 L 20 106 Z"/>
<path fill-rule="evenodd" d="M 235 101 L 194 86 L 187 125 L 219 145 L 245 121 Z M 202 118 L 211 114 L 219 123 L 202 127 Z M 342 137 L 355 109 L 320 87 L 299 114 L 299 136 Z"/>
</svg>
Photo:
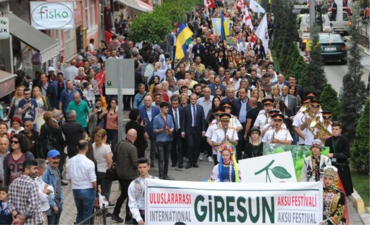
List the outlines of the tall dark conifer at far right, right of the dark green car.
<svg viewBox="0 0 370 225">
<path fill-rule="evenodd" d="M 356 17 L 356 16 L 354 16 Z M 354 18 L 353 18 L 354 19 Z M 356 24 L 356 23 L 353 23 Z M 340 121 L 343 124 L 343 136 L 353 141 L 356 126 L 360 118 L 360 112 L 366 100 L 365 83 L 361 81 L 363 66 L 361 65 L 361 54 L 358 27 L 351 30 L 352 46 L 349 48 L 348 71 L 343 77 L 343 92 L 340 101 Z"/>
</svg>

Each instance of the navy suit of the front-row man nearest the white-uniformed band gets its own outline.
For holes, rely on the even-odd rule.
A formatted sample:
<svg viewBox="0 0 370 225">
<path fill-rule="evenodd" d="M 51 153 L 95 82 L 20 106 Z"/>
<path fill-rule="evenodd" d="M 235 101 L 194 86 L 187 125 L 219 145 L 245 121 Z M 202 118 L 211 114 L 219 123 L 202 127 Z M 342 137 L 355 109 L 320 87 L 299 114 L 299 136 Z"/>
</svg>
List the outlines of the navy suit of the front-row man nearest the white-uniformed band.
<svg viewBox="0 0 370 225">
<path fill-rule="evenodd" d="M 199 145 L 202 137 L 202 132 L 206 131 L 205 117 L 203 107 L 196 104 L 196 124 L 193 127 L 193 117 L 192 117 L 192 104 L 186 105 L 184 108 L 184 120 L 181 123 L 181 132 L 185 132 L 185 138 L 188 143 L 187 157 L 190 163 L 196 164 L 199 156 Z"/>
</svg>

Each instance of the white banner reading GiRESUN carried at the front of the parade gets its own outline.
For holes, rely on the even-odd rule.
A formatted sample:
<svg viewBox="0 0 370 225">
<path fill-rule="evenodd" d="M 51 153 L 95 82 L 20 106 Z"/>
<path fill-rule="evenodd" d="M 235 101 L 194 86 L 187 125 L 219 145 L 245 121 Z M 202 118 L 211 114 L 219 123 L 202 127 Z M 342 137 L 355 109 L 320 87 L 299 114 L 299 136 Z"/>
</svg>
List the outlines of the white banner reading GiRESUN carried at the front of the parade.
<svg viewBox="0 0 370 225">
<path fill-rule="evenodd" d="M 219 183 L 148 179 L 145 224 L 299 224 L 322 221 L 322 183 Z"/>
</svg>

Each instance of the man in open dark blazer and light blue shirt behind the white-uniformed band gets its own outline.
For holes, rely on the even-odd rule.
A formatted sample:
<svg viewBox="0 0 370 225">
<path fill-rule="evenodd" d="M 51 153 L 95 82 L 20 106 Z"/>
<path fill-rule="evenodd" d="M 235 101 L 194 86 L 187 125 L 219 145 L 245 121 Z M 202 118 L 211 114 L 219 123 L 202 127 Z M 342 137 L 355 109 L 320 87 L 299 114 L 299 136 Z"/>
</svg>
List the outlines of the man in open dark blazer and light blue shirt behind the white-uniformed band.
<svg viewBox="0 0 370 225">
<path fill-rule="evenodd" d="M 239 98 L 232 105 L 231 114 L 236 115 L 243 129 L 238 132 L 238 145 L 236 145 L 236 159 L 242 159 L 242 151 L 245 141 L 243 139 L 247 122 L 247 112 L 250 110 L 248 105 L 248 90 L 245 87 L 239 89 Z"/>
</svg>

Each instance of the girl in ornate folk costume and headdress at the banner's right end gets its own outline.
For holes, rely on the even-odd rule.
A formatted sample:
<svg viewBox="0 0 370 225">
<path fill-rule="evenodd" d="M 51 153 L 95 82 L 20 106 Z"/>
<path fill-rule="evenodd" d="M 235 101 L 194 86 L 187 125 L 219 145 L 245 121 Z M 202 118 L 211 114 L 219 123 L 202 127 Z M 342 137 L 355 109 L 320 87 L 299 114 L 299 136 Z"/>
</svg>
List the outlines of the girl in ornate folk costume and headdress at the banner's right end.
<svg viewBox="0 0 370 225">
<path fill-rule="evenodd" d="M 346 222 L 346 195 L 338 189 L 338 169 L 334 166 L 324 168 L 323 221 L 320 225 L 341 225 Z"/>
</svg>

